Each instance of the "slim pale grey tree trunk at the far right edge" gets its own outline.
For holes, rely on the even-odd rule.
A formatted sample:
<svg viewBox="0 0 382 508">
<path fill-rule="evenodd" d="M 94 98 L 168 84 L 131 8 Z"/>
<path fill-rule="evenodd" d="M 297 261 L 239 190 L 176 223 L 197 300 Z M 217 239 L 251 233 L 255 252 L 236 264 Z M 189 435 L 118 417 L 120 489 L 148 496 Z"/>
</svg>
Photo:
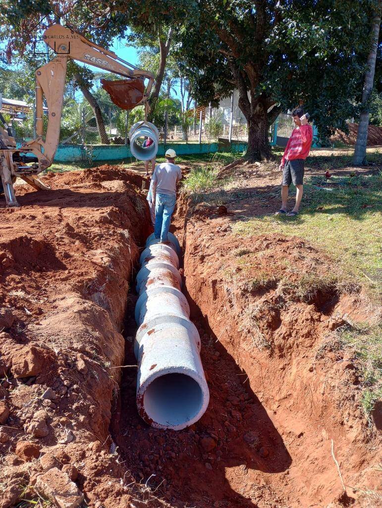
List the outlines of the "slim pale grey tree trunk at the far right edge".
<svg viewBox="0 0 382 508">
<path fill-rule="evenodd" d="M 378 7 L 373 14 L 371 24 L 372 46 L 369 56 L 367 57 L 367 71 L 365 73 L 365 83 L 362 92 L 362 111 L 358 124 L 357 141 L 353 156 L 354 166 L 360 166 L 362 164 L 365 164 L 366 162 L 367 130 L 369 126 L 369 108 L 367 102 L 370 98 L 373 89 L 381 10 L 382 10 L 382 1 L 379 0 Z"/>
</svg>

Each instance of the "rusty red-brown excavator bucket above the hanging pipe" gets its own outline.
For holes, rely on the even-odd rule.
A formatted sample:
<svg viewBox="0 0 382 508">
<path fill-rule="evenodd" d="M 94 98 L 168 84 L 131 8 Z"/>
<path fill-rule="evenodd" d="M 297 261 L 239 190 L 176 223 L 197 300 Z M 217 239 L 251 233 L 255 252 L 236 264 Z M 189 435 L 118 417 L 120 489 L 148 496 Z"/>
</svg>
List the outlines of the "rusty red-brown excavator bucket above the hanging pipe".
<svg viewBox="0 0 382 508">
<path fill-rule="evenodd" d="M 122 109 L 132 109 L 139 104 L 145 93 L 142 78 L 109 81 L 101 79 L 102 88 L 109 93 L 111 100 Z"/>
</svg>

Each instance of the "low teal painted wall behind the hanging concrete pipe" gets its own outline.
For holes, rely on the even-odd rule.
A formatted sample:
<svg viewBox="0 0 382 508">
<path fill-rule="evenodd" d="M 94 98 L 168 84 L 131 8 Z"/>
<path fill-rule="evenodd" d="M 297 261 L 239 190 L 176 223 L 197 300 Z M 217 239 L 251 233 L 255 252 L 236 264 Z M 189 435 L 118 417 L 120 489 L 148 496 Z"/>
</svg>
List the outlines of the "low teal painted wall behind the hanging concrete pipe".
<svg viewBox="0 0 382 508">
<path fill-rule="evenodd" d="M 218 151 L 218 143 L 171 143 L 166 150 L 172 148 L 178 155 L 191 155 L 193 153 L 209 153 Z M 232 143 L 233 152 L 242 152 L 247 149 L 247 143 Z M 86 153 L 88 152 L 88 153 Z M 159 145 L 158 156 L 163 156 L 164 146 Z M 132 157 L 129 146 L 125 145 L 59 145 L 54 156 L 54 162 L 85 161 L 114 161 Z"/>
</svg>

